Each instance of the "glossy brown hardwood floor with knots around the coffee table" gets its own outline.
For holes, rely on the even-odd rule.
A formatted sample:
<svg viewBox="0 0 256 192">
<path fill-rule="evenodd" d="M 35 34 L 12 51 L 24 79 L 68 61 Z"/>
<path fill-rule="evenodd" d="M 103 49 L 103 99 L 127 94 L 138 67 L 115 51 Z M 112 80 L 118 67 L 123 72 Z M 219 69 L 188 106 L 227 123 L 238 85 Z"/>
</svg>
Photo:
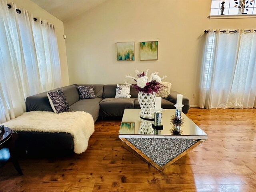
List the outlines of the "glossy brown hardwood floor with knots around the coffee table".
<svg viewBox="0 0 256 192">
<path fill-rule="evenodd" d="M 83 154 L 21 159 L 19 176 L 1 168 L 1 192 L 255 192 L 256 109 L 202 110 L 187 114 L 209 139 L 163 172 L 121 147 L 120 120 L 98 120 Z"/>
</svg>

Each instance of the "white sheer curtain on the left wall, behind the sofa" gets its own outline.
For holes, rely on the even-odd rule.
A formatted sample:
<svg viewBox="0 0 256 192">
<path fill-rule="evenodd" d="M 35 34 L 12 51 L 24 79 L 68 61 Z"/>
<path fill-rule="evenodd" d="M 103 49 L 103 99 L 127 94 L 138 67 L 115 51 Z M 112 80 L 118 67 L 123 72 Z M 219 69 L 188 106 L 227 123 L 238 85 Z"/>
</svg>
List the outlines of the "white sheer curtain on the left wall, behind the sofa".
<svg viewBox="0 0 256 192">
<path fill-rule="evenodd" d="M 0 123 L 21 115 L 26 97 L 61 84 L 54 26 L 9 4 L 0 1 Z"/>
</svg>

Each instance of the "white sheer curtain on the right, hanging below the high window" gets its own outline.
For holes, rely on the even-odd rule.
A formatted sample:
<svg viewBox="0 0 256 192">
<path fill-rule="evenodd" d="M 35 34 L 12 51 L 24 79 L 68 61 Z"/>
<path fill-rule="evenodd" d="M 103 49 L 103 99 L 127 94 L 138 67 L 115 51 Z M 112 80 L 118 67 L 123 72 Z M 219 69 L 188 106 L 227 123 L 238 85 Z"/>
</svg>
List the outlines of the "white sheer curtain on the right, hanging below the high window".
<svg viewBox="0 0 256 192">
<path fill-rule="evenodd" d="M 254 29 L 209 30 L 198 106 L 207 109 L 256 107 Z"/>
</svg>

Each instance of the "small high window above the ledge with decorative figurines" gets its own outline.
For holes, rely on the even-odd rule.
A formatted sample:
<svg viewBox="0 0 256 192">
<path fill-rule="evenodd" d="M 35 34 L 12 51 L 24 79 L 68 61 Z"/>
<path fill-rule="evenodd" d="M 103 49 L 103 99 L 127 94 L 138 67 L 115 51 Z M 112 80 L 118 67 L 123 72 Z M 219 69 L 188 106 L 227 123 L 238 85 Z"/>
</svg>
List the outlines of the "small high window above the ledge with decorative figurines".
<svg viewBox="0 0 256 192">
<path fill-rule="evenodd" d="M 240 1 L 243 0 L 225 0 L 225 4 L 224 4 L 224 15 L 238 15 L 242 13 L 242 9 L 238 8 L 238 5 Z M 248 6 L 248 11 L 244 9 L 244 13 L 247 14 L 256 14 L 256 0 L 245 0 L 246 6 Z M 212 0 L 212 6 L 211 6 L 211 13 L 210 15 L 220 15 L 221 14 L 221 6 L 223 0 Z M 238 4 L 236 4 L 238 3 Z M 235 7 L 236 6 L 236 7 Z"/>
</svg>

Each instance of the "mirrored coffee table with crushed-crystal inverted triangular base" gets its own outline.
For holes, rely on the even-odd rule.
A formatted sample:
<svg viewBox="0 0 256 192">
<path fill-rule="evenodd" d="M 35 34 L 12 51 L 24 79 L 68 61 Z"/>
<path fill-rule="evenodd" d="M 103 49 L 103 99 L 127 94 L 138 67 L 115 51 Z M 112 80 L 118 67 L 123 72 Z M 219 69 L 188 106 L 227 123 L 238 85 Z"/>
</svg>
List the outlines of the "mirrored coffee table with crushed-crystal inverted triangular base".
<svg viewBox="0 0 256 192">
<path fill-rule="evenodd" d="M 170 118 L 175 115 L 175 109 L 162 111 L 163 130 L 154 130 L 153 121 L 140 118 L 139 112 L 140 109 L 124 110 L 118 137 L 124 148 L 160 171 L 208 139 L 184 113 L 182 134 L 172 134 Z"/>
</svg>

